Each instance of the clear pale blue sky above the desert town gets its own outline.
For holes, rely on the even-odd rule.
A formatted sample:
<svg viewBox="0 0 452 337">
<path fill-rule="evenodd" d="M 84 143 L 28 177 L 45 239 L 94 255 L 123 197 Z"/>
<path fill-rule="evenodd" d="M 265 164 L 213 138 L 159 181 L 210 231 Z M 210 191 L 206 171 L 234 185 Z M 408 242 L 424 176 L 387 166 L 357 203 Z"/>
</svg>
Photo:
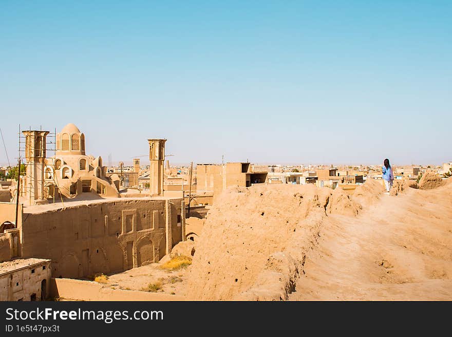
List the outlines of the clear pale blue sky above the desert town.
<svg viewBox="0 0 452 337">
<path fill-rule="evenodd" d="M 451 17 L 450 0 L 2 0 L 8 155 L 19 123 L 72 122 L 105 163 L 148 138 L 174 163 L 452 160 Z"/>
</svg>

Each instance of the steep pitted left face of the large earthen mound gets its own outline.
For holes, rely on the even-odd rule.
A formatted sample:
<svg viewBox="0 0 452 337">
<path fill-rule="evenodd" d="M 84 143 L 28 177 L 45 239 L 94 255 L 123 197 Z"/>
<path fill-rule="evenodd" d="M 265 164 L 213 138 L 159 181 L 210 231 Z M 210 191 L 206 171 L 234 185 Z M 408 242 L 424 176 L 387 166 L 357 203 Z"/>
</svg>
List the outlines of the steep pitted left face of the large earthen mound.
<svg viewBox="0 0 452 337">
<path fill-rule="evenodd" d="M 224 191 L 199 238 L 187 297 L 286 299 L 315 243 L 331 192 L 313 185 Z"/>
</svg>

